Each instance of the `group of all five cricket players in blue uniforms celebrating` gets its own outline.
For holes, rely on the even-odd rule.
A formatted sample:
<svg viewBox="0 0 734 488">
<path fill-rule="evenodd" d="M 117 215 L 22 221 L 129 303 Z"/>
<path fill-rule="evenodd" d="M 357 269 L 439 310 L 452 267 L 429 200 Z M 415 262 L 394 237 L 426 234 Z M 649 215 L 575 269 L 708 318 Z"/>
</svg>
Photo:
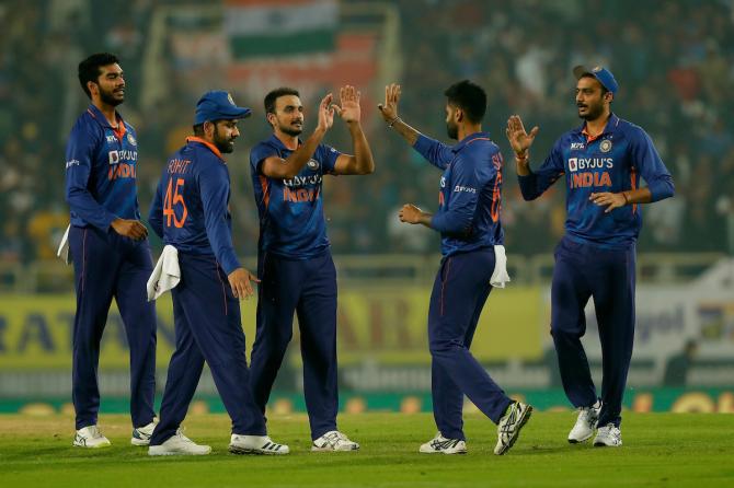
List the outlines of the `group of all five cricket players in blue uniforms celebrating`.
<svg viewBox="0 0 734 488">
<path fill-rule="evenodd" d="M 555 249 L 551 335 L 563 387 L 578 417 L 567 441 L 594 437 L 596 446 L 621 445 L 621 406 L 634 337 L 635 242 L 639 205 L 668 198 L 673 179 L 650 137 L 617 117 L 610 104 L 617 81 L 605 68 L 574 69 L 581 127 L 558 139 L 532 171 L 529 148 L 538 128 L 526 131 L 511 116 L 506 136 L 526 200 L 565 176 L 565 235 Z M 234 454 L 288 454 L 268 435 L 265 409 L 298 317 L 303 393 L 312 451 L 357 451 L 339 430 L 336 270 L 326 236 L 322 185 L 325 175 L 369 175 L 376 164 L 360 125 L 360 93 L 351 85 L 319 103 L 317 126 L 301 139 L 300 94 L 278 88 L 264 98 L 272 136 L 250 153 L 254 201 L 260 217 L 257 269 L 240 264 L 232 243 L 230 176 L 226 154 L 234 150 L 240 124 L 252 111 L 225 91 L 198 101 L 193 136 L 162 167 L 148 214 L 164 244 L 153 265 L 140 221 L 135 129 L 117 113 L 125 100 L 118 59 L 95 54 L 79 65 L 79 81 L 91 100 L 74 125 L 66 154 L 71 224 L 59 252 L 73 263 L 77 312 L 73 327 L 73 445 L 102 448 L 98 428 L 100 341 L 112 299 L 117 302 L 130 349 L 131 444 L 150 455 L 203 455 L 211 449 L 183 433 L 182 422 L 206 362 L 232 421 Z M 428 307 L 432 399 L 437 434 L 421 453 L 467 452 L 465 395 L 497 427 L 494 453 L 505 454 L 529 420 L 532 407 L 509 398 L 470 352 L 482 309 L 493 288 L 509 281 L 501 195 L 504 160 L 482 130 L 484 90 L 461 81 L 446 96 L 446 127 L 455 146 L 426 137 L 399 116 L 401 88 L 386 88 L 378 107 L 397 131 L 443 171 L 434 213 L 405 204 L 398 218 L 441 237 L 441 262 Z M 325 144 L 341 118 L 353 154 Z M 640 186 L 640 177 L 646 186 Z M 257 288 L 256 332 L 245 357 L 239 300 Z M 160 407 L 153 409 L 156 372 L 154 300 L 170 291 L 175 351 Z M 600 395 L 581 344 L 584 307 L 594 299 L 603 350 Z M 596 434 L 596 435 L 595 435 Z"/>
</svg>

